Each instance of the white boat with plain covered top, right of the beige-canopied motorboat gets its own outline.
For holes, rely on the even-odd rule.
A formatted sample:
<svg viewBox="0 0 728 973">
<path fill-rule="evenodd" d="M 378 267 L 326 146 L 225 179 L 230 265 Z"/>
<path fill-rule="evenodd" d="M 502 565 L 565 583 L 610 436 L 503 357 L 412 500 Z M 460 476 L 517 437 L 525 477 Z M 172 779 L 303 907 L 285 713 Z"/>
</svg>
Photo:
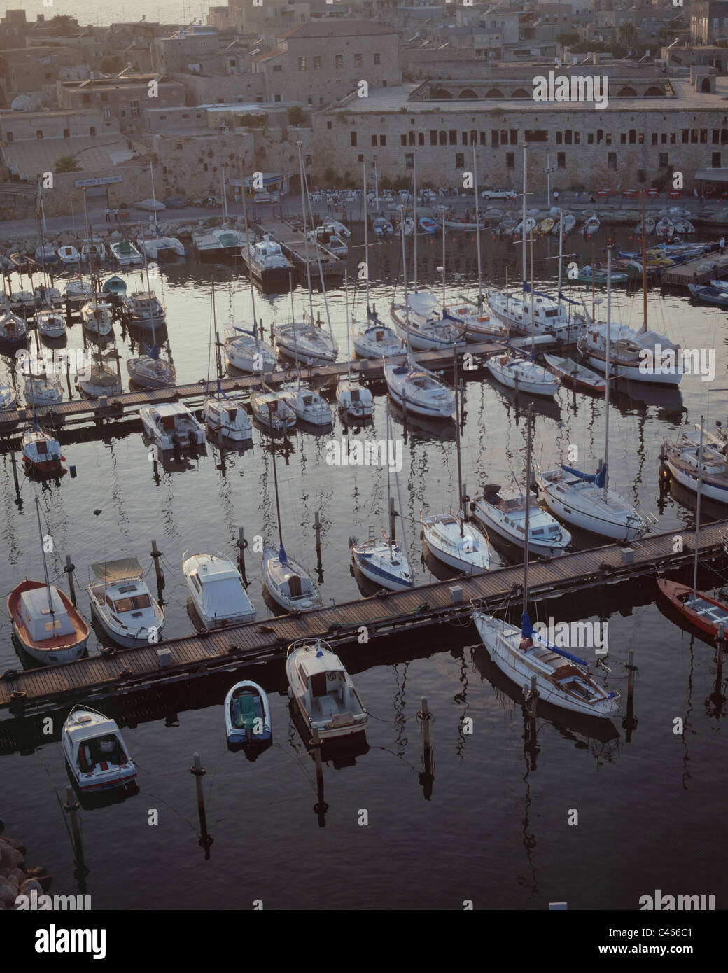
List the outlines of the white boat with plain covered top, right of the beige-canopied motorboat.
<svg viewBox="0 0 728 973">
<path fill-rule="evenodd" d="M 182 555 L 182 572 L 206 629 L 255 621 L 255 608 L 232 560 L 217 554 Z"/>
</svg>

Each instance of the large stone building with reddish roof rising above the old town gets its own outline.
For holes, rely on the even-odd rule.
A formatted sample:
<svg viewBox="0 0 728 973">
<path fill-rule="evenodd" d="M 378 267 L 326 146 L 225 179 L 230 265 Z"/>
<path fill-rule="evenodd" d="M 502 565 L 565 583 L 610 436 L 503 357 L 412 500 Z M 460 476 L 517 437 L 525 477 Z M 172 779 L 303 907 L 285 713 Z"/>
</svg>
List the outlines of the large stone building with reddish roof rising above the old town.
<svg viewBox="0 0 728 973">
<path fill-rule="evenodd" d="M 253 59 L 268 101 L 323 105 L 355 90 L 398 85 L 399 35 L 374 20 L 321 19 L 285 31 L 277 47 Z"/>
</svg>

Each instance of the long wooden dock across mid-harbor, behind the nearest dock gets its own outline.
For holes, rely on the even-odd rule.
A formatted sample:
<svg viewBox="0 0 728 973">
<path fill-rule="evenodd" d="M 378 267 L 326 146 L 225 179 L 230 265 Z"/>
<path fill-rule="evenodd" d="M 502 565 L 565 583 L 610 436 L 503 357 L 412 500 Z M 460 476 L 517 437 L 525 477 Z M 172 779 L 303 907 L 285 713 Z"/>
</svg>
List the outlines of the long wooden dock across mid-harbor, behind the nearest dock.
<svg viewBox="0 0 728 973">
<path fill-rule="evenodd" d="M 463 345 L 457 351 L 458 359 L 462 359 L 464 354 L 473 356 L 473 368 L 466 370 L 463 368 L 461 375 L 467 377 L 469 374 L 477 375 L 480 370 L 479 360 L 489 357 L 498 351 L 502 351 L 502 344 L 495 342 L 478 342 L 477 344 Z M 405 352 L 401 355 L 391 355 L 389 361 L 394 363 L 404 362 Z M 453 351 L 419 351 L 412 355 L 420 365 L 429 369 L 448 370 L 453 366 Z M 291 369 L 293 366 L 291 366 Z M 291 369 L 277 369 L 269 372 L 262 378 L 267 384 L 282 384 L 295 378 L 295 372 Z M 368 381 L 379 381 L 383 379 L 382 362 L 376 359 L 356 359 L 351 362 L 351 371 L 355 375 L 362 377 L 366 383 Z M 334 362 L 331 365 L 317 365 L 314 368 L 302 369 L 301 378 L 315 384 L 317 388 L 326 385 L 335 385 L 339 378 L 346 376 L 348 372 L 347 362 Z M 252 389 L 257 388 L 261 383 L 261 376 L 239 375 L 220 379 L 220 387 L 226 395 L 233 399 L 240 400 L 245 404 L 250 396 Z M 110 399 L 84 399 L 77 398 L 70 402 L 61 402 L 56 406 L 39 406 L 35 414 L 40 421 L 44 419 L 50 425 L 59 425 L 74 419 L 80 421 L 103 422 L 107 419 L 119 419 L 128 417 L 129 414 L 136 414 L 143 406 L 153 406 L 160 402 L 182 402 L 190 408 L 198 408 L 205 395 L 204 381 L 192 382 L 187 385 L 173 385 L 170 388 L 142 389 L 138 392 L 123 392 Z M 216 384 L 214 380 L 207 386 L 210 392 L 214 393 Z M 236 395 L 235 393 L 239 393 Z M 0 418 L 0 437 L 12 435 L 18 426 L 23 425 L 31 415 L 30 410 L 9 409 Z"/>
</svg>

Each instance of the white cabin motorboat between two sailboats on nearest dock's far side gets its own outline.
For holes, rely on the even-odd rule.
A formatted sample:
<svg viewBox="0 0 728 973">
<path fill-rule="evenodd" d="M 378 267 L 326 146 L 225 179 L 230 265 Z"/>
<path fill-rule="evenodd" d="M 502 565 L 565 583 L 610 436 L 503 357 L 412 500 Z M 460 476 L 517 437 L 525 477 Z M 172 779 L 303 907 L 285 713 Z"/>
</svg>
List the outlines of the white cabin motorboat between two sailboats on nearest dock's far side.
<svg viewBox="0 0 728 973">
<path fill-rule="evenodd" d="M 518 490 L 486 487 L 471 503 L 473 517 L 488 530 L 517 547 L 525 546 L 528 502 L 528 550 L 542 558 L 558 558 L 571 543 L 571 534 L 542 510 L 534 496 Z"/>
</svg>

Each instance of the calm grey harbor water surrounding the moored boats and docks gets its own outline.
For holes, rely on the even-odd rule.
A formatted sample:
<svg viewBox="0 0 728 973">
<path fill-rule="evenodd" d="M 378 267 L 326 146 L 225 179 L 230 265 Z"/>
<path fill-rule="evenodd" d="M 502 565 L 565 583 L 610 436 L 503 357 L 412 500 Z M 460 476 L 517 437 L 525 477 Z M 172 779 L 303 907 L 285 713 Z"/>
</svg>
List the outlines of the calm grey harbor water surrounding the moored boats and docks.
<svg viewBox="0 0 728 973">
<path fill-rule="evenodd" d="M 603 245 L 604 234 L 597 237 Z M 581 240 L 567 249 L 590 257 Z M 627 243 L 622 238 L 623 246 Z M 448 237 L 448 291 L 473 296 L 477 281 L 471 234 Z M 438 286 L 442 263 L 438 242 L 423 241 L 420 276 Z M 536 286 L 554 286 L 557 253 L 551 241 L 536 245 Z M 350 257 L 349 275 L 360 259 Z M 396 243 L 370 250 L 372 299 L 385 312 L 391 280 L 399 265 Z M 520 254 L 487 238 L 486 283 L 520 277 Z M 584 262 L 584 260 L 582 260 Z M 455 282 L 452 274 L 462 274 Z M 138 279 L 138 271 L 136 273 Z M 223 330 L 231 320 L 250 319 L 250 294 L 239 271 L 188 262 L 166 266 L 155 285 L 167 306 L 168 338 L 178 381 L 207 375 L 210 294 L 215 282 L 216 318 Z M 583 293 L 583 292 L 580 292 Z M 294 305 L 303 306 L 298 288 Z M 343 288 L 328 295 L 340 357 L 346 357 Z M 700 415 L 725 421 L 725 312 L 691 306 L 682 296 L 650 292 L 650 325 L 685 347 L 713 348 L 715 380 L 686 376 L 679 391 L 622 393 L 610 409 L 611 485 L 657 518 L 655 529 L 689 531 L 690 505 L 668 494 L 661 502 L 658 453 L 664 437 L 680 425 L 692 427 Z M 264 324 L 284 323 L 288 295 L 257 295 Z M 323 315 L 323 300 L 314 296 Z M 356 296 L 361 309 L 361 292 Z M 616 319 L 641 321 L 641 295 L 613 295 Z M 119 350 L 127 355 L 128 340 Z M 69 347 L 82 344 L 73 327 Z M 7 360 L 0 364 L 5 378 Z M 124 369 L 123 369 L 124 372 Z M 126 377 L 125 377 L 126 383 Z M 713 390 L 711 389 L 713 387 Z M 404 529 L 417 581 L 432 577 L 420 560 L 419 512 L 443 511 L 455 503 L 454 427 L 414 428 L 403 434 L 399 476 Z M 583 468 L 603 454 L 604 403 L 564 389 L 556 403 L 534 409 L 534 460 L 553 464 L 569 444 L 579 448 Z M 276 446 L 283 537 L 289 554 L 315 566 L 314 513 L 322 521 L 321 591 L 326 603 L 359 595 L 349 571 L 348 538 L 379 532 L 386 521 L 386 477 L 373 467 L 326 463 L 326 443 L 341 440 L 339 417 L 323 435 L 295 431 L 286 448 Z M 372 426 L 351 431 L 365 439 L 385 437 L 385 398 L 376 395 Z M 490 379 L 468 380 L 462 435 L 463 479 L 474 496 L 485 483 L 508 485 L 524 476 L 526 414 L 507 391 Z M 193 631 L 187 614 L 182 555 L 188 550 L 220 550 L 233 555 L 237 528 L 248 538 L 275 542 L 277 529 L 273 471 L 267 437 L 254 433 L 252 450 L 222 454 L 209 445 L 206 456 L 183 466 L 159 468 L 147 460 L 139 427 L 109 425 L 103 435 L 64 441 L 75 479 L 59 484 L 21 484 L 22 505 L 14 502 L 7 453 L 0 455 L 0 593 L 3 598 L 25 574 L 42 576 L 33 497 L 54 539 L 52 579 L 65 584 L 62 565 L 76 565 L 79 604 L 89 612 L 89 565 L 122 556 L 149 567 L 157 540 L 164 553 L 166 626 L 164 637 Z M 719 512 L 715 512 L 716 515 Z M 584 539 L 579 541 L 582 545 Z M 502 552 L 500 559 L 507 559 Z M 248 553 L 250 595 L 265 620 L 270 611 L 261 592 L 257 559 Z M 721 579 L 714 578 L 719 586 Z M 273 747 L 255 763 L 229 753 L 222 702 L 233 675 L 151 694 L 127 707 L 99 703 L 124 724 L 129 750 L 140 767 L 140 793 L 122 804 L 83 811 L 86 891 L 92 906 L 111 908 L 461 909 L 472 899 L 478 909 L 544 909 L 549 901 L 569 908 L 637 909 L 638 898 L 655 888 L 677 893 L 714 894 L 725 908 L 722 860 L 728 851 L 722 827 L 726 740 L 725 704 L 717 708 L 714 650 L 675 627 L 654 604 L 647 582 L 635 590 L 633 605 L 594 592 L 579 604 L 558 601 L 539 608 L 539 618 L 563 611 L 569 617 L 609 622 L 610 653 L 601 669 L 610 688 L 625 693 L 623 663 L 636 651 L 637 728 L 628 734 L 622 716 L 612 725 L 583 728 L 546 717 L 538 720 L 537 750 L 525 747 L 519 691 L 493 672 L 473 627 L 440 626 L 426 638 L 390 640 L 385 647 L 356 646 L 342 653 L 372 714 L 368 752 L 349 762 L 325 766 L 325 827 L 319 826 L 313 764 L 291 720 L 282 664 L 258 667 L 249 677 L 262 682 L 273 706 Z M 580 614 L 573 614 L 577 610 Z M 0 615 L 0 671 L 18 667 L 11 624 Z M 91 651 L 98 648 L 91 638 Z M 240 676 L 240 678 L 248 676 Z M 723 687 L 724 692 L 724 687 Z M 426 696 L 434 713 L 434 779 L 422 778 L 422 745 L 417 713 Z M 64 714 L 60 714 L 62 720 Z M 472 719 L 472 734 L 463 719 Z M 7 717 L 6 717 L 7 718 Z M 673 721 L 684 721 L 684 734 Z M 28 860 L 43 863 L 54 876 L 53 890 L 77 890 L 73 848 L 56 794 L 68 783 L 57 733 L 34 752 L 0 753 L 0 817 L 8 834 L 28 846 Z M 629 737 L 629 739 L 627 739 Z M 0 739 L 2 736 L 0 735 Z M 11 747 L 6 748 L 8 750 Z M 207 828 L 214 840 L 209 860 L 199 845 L 194 779 L 189 768 L 199 750 L 207 769 L 204 787 Z M 159 823 L 150 825 L 152 809 Z M 571 810 L 578 825 L 569 825 Z M 360 825 L 361 811 L 368 824 Z"/>
</svg>

